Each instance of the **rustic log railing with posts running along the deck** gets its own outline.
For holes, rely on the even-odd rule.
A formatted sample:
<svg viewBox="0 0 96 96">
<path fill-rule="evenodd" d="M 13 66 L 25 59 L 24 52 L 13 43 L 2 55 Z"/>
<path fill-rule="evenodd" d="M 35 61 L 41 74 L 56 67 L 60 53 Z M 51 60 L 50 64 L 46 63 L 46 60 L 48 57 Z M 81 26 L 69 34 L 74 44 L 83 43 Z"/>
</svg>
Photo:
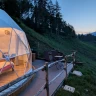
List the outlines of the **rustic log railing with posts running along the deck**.
<svg viewBox="0 0 96 96">
<path fill-rule="evenodd" d="M 2 92 L 3 90 L 11 87 L 12 85 L 18 83 L 19 81 L 21 81 L 21 80 L 23 80 L 23 79 L 25 79 L 25 78 L 27 78 L 27 77 L 32 76 L 34 73 L 42 70 L 42 71 L 45 71 L 45 73 L 46 73 L 46 77 L 45 77 L 46 83 L 40 88 L 40 90 L 39 90 L 34 96 L 38 96 L 44 89 L 46 89 L 46 96 L 49 96 L 49 85 L 52 84 L 52 83 L 54 82 L 54 80 L 56 80 L 56 79 L 64 72 L 64 70 L 65 70 L 65 72 L 66 72 L 66 79 L 67 79 L 67 77 L 68 77 L 68 76 L 67 76 L 67 75 L 68 75 L 68 74 L 67 74 L 67 59 L 68 59 L 69 57 L 72 57 L 72 58 L 73 58 L 73 61 L 72 61 L 71 63 L 73 64 L 73 68 L 74 68 L 74 65 L 75 65 L 75 55 L 76 55 L 76 52 L 73 52 L 73 53 L 70 54 L 70 55 L 66 55 L 66 56 L 64 57 L 64 59 L 62 59 L 62 60 L 58 60 L 58 61 L 52 62 L 52 63 L 50 63 L 50 64 L 48 64 L 48 62 L 46 62 L 44 66 L 42 66 L 42 67 L 40 67 L 40 68 L 38 68 L 38 69 L 35 69 L 35 70 L 33 70 L 31 73 L 28 73 L 28 74 L 26 74 L 26 75 L 24 75 L 24 76 L 22 76 L 22 77 L 19 77 L 18 79 L 16 79 L 16 80 L 14 80 L 14 81 L 6 84 L 5 86 L 1 87 L 1 88 L 0 88 L 0 92 Z M 48 78 L 48 76 L 49 76 L 49 74 L 48 74 L 48 69 L 49 69 L 51 66 L 53 66 L 53 65 L 55 65 L 56 63 L 61 62 L 61 61 L 64 62 L 64 63 L 63 63 L 63 70 L 62 70 L 56 77 L 54 77 L 51 81 L 49 81 L 49 78 Z"/>
</svg>

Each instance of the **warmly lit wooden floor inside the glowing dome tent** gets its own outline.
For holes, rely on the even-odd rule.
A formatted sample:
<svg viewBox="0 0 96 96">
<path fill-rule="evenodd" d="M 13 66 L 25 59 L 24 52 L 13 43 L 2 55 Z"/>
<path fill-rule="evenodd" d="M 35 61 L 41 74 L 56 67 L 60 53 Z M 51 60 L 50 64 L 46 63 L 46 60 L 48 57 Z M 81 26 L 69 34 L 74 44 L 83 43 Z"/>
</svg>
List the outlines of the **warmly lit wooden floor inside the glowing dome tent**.
<svg viewBox="0 0 96 96">
<path fill-rule="evenodd" d="M 14 71 L 10 69 L 0 74 L 0 87 L 11 82 L 12 80 L 15 80 L 16 78 L 18 78 L 18 76 L 21 77 L 29 69 L 30 67 L 28 66 L 25 71 L 24 64 L 14 65 Z M 16 73 L 18 74 L 18 76 L 16 75 Z"/>
</svg>

